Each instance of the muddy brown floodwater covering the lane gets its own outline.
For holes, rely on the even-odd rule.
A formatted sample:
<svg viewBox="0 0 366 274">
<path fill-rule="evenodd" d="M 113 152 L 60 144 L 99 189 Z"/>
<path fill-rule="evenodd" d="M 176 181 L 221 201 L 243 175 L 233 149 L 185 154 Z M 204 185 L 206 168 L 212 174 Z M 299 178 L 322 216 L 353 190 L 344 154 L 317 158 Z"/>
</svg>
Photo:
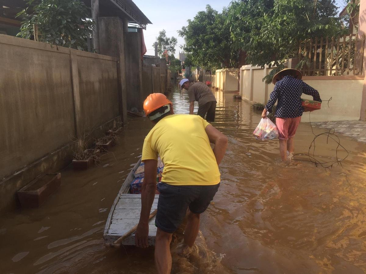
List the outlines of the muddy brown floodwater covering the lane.
<svg viewBox="0 0 366 274">
<path fill-rule="evenodd" d="M 231 93 L 214 94 L 213 126 L 229 140 L 220 189 L 201 217 L 196 249 L 175 258 L 173 272 L 365 273 L 366 145 L 340 137 L 349 156 L 332 170 L 281 164 L 278 140 L 252 136 L 260 113 Z M 185 91 L 172 92 L 176 113 L 189 112 L 187 98 Z M 102 239 L 113 200 L 151 128 L 146 118 L 129 118 L 119 145 L 99 166 L 66 168 L 61 187 L 40 208 L 1 216 L 0 273 L 156 273 L 153 247 L 111 249 Z M 313 140 L 309 123 L 300 124 L 295 138 L 295 152 L 306 153 Z M 317 138 L 315 155 L 335 160 L 337 145 L 326 141 Z"/>
</svg>

